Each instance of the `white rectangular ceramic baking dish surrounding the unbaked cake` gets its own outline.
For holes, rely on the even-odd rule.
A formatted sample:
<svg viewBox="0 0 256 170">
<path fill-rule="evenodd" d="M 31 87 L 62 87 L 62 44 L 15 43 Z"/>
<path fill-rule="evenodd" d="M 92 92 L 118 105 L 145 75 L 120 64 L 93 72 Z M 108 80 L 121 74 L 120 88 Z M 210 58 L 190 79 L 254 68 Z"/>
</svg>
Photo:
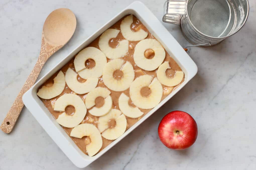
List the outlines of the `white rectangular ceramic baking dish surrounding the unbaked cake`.
<svg viewBox="0 0 256 170">
<path fill-rule="evenodd" d="M 48 80 L 55 72 L 62 68 L 71 58 L 73 58 L 80 50 L 89 45 L 95 38 L 102 34 L 111 25 L 116 23 L 122 17 L 128 14 L 135 15 L 155 36 L 166 49 L 166 51 L 174 58 L 185 73 L 184 82 L 178 86 L 172 93 L 170 93 L 163 101 L 161 101 L 155 108 L 148 112 L 138 122 L 136 122 L 131 128 L 129 128 L 122 136 L 114 140 L 110 145 L 100 151 L 98 154 L 89 157 L 84 154 L 74 143 L 74 141 L 67 135 L 65 130 L 57 123 L 55 118 L 44 106 L 44 103 L 36 95 L 37 89 Z M 179 45 L 174 37 L 166 30 L 162 23 L 152 14 L 152 12 L 141 2 L 134 2 L 118 15 L 116 15 L 108 23 L 104 24 L 98 31 L 92 36 L 87 38 L 81 45 L 74 49 L 67 57 L 59 62 L 51 71 L 43 76 L 37 83 L 31 87 L 23 96 L 23 102 L 27 109 L 33 114 L 40 125 L 45 129 L 49 136 L 55 141 L 59 148 L 68 156 L 68 158 L 79 168 L 88 166 L 90 163 L 98 159 L 102 154 L 112 148 L 116 143 L 122 140 L 126 135 L 132 132 L 138 125 L 145 121 L 150 115 L 152 115 L 157 109 L 159 109 L 164 103 L 172 98 L 182 87 L 184 87 L 189 80 L 191 80 L 197 73 L 197 66 L 195 62 L 188 56 L 185 50 Z"/>
</svg>

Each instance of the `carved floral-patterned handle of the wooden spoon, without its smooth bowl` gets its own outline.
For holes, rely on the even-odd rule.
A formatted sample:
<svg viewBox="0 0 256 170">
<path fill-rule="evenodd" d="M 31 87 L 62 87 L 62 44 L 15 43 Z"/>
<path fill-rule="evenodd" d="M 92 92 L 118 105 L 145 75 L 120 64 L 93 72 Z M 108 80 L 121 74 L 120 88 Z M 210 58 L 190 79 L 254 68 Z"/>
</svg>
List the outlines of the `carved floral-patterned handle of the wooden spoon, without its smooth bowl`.
<svg viewBox="0 0 256 170">
<path fill-rule="evenodd" d="M 39 73 L 42 70 L 42 67 L 44 66 L 45 62 L 48 60 L 48 58 L 58 51 L 63 45 L 60 46 L 51 46 L 47 42 L 45 42 L 44 34 L 42 34 L 42 43 L 41 43 L 41 50 L 40 50 L 40 55 L 39 58 L 36 62 L 36 65 L 34 69 L 31 71 L 30 75 L 28 76 L 28 79 L 26 83 L 23 85 L 22 89 L 20 90 L 18 96 L 16 97 L 12 107 L 8 111 L 2 125 L 0 128 L 3 130 L 5 133 L 10 133 L 20 115 L 20 112 L 22 111 L 24 107 L 24 103 L 22 101 L 22 96 L 26 91 L 32 87 L 36 79 L 39 75 Z"/>
</svg>

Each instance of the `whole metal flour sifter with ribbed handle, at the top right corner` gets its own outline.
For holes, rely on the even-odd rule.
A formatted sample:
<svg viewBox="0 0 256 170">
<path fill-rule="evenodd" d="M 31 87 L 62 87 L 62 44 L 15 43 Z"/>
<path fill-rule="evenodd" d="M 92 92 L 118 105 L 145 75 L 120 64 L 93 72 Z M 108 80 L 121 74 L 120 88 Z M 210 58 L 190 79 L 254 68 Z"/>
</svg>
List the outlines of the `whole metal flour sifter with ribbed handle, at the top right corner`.
<svg viewBox="0 0 256 170">
<path fill-rule="evenodd" d="M 249 14 L 248 0 L 168 0 L 163 21 L 178 24 L 193 46 L 212 46 L 237 33 Z"/>
</svg>

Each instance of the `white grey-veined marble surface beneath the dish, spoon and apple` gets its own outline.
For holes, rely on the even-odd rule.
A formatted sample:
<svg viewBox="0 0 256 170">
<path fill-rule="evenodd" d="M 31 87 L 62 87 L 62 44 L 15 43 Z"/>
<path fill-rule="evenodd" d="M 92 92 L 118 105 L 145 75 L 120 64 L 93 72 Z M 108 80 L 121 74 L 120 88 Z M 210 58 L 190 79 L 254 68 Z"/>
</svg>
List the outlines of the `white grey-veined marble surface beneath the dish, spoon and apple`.
<svg viewBox="0 0 256 170">
<path fill-rule="evenodd" d="M 40 77 L 70 53 L 129 1 L 2 0 L 0 2 L 0 103 L 2 121 L 40 50 L 42 25 L 60 7 L 77 17 L 70 42 L 52 56 Z M 161 20 L 164 0 L 143 0 Z M 211 48 L 188 54 L 198 74 L 161 109 L 86 169 L 256 169 L 256 13 L 236 35 Z M 189 43 L 177 25 L 164 24 L 184 47 Z M 187 150 L 162 145 L 157 127 L 169 111 L 190 113 L 198 139 Z M 0 132 L 0 169 L 78 169 L 24 108 L 11 134 Z"/>
</svg>

